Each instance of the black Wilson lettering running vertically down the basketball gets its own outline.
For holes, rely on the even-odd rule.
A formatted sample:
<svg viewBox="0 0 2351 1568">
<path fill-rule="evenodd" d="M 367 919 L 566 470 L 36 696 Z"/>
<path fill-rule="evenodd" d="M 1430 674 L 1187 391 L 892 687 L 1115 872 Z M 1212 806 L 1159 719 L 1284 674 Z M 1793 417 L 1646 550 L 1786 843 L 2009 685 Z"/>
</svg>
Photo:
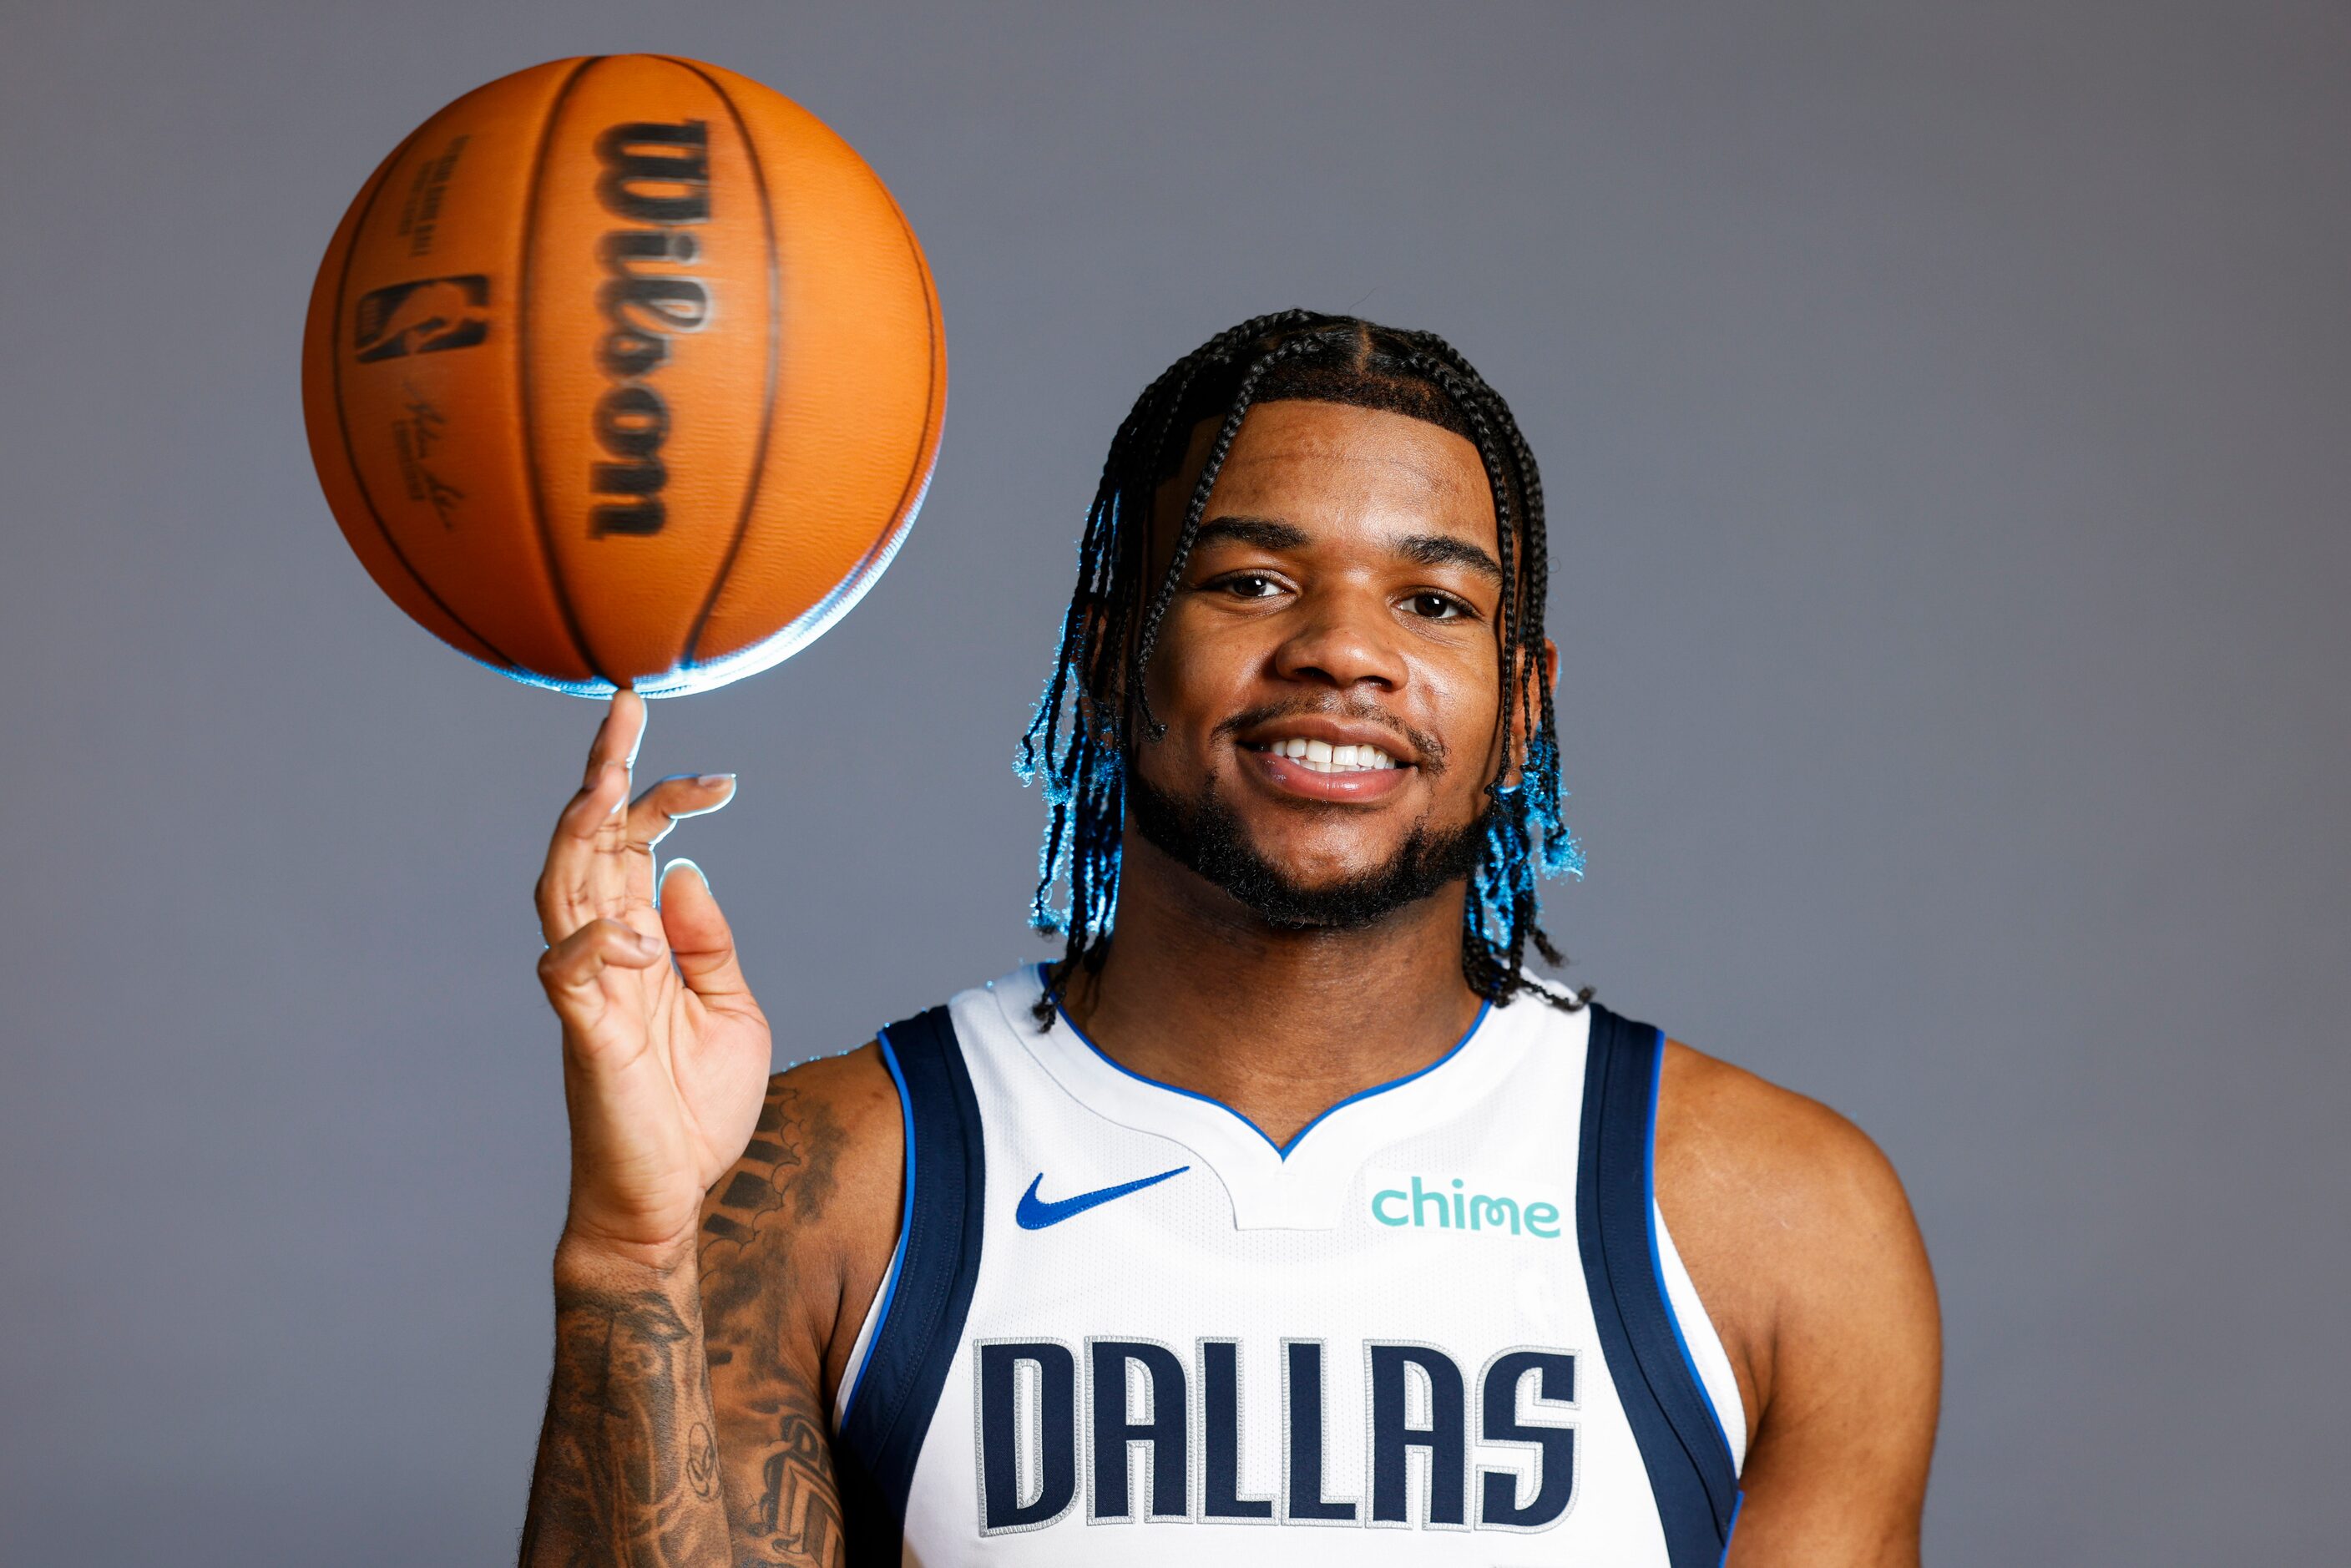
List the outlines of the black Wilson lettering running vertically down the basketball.
<svg viewBox="0 0 2351 1568">
<path fill-rule="evenodd" d="M 658 534 L 668 522 L 661 491 L 670 470 L 670 404 L 654 376 L 670 362 L 670 339 L 710 324 L 710 284 L 675 268 L 694 266 L 701 244 L 686 228 L 710 221 L 710 127 L 703 120 L 614 125 L 595 141 L 604 165 L 595 193 L 604 212 L 642 228 L 604 235 L 597 259 L 604 284 L 597 308 L 609 329 L 597 364 L 611 386 L 595 404 L 595 440 L 604 458 L 588 489 L 600 496 L 588 531 Z"/>
</svg>

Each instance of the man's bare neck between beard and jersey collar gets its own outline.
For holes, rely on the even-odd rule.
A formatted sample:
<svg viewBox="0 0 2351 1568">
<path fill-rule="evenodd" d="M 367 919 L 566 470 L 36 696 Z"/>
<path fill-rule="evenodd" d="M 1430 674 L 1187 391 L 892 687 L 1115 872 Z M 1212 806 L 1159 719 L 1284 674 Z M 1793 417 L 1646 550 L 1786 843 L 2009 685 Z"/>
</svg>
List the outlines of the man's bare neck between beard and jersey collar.
<svg viewBox="0 0 2351 1568">
<path fill-rule="evenodd" d="M 1277 931 L 1128 832 L 1119 929 L 1065 1006 L 1128 1072 L 1223 1100 L 1277 1145 L 1469 1030 L 1455 882 L 1359 931 Z"/>
</svg>

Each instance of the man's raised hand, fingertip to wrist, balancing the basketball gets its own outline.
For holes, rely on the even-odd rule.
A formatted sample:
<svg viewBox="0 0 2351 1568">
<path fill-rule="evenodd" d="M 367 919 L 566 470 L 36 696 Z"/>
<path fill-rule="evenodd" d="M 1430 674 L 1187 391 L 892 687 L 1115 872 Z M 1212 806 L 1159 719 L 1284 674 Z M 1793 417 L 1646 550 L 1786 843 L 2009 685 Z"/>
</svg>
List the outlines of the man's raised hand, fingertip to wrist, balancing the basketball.
<svg viewBox="0 0 2351 1568">
<path fill-rule="evenodd" d="M 614 693 L 538 877 L 538 978 L 564 1027 L 562 1255 L 670 1267 L 750 1143 L 771 1046 L 701 870 L 654 870 L 677 818 L 724 806 L 734 778 L 663 778 L 630 802 L 642 738 L 644 698 Z"/>
</svg>

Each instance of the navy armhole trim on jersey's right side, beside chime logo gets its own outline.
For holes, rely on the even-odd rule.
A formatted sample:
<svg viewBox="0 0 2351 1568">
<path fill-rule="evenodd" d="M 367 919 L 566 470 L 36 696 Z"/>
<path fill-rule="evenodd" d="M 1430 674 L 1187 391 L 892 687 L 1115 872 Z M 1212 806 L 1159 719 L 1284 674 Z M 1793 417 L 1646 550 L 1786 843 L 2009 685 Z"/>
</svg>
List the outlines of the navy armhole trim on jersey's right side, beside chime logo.
<svg viewBox="0 0 2351 1568">
<path fill-rule="evenodd" d="M 1719 1568 L 1740 1481 L 1681 1326 L 1650 1229 L 1665 1034 L 1592 1004 L 1575 1234 L 1608 1375 L 1648 1472 L 1672 1568 Z"/>
</svg>

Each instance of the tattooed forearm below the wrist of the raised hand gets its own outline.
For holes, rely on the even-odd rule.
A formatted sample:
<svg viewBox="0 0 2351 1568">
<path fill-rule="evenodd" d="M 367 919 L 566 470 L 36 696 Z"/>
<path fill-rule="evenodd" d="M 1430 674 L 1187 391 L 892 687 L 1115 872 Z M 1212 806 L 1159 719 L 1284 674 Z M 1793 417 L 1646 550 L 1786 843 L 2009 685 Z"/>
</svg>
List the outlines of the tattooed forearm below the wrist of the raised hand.
<svg viewBox="0 0 2351 1568">
<path fill-rule="evenodd" d="M 691 1248 L 555 1255 L 555 1378 L 522 1568 L 726 1568 L 726 1497 Z"/>
</svg>

